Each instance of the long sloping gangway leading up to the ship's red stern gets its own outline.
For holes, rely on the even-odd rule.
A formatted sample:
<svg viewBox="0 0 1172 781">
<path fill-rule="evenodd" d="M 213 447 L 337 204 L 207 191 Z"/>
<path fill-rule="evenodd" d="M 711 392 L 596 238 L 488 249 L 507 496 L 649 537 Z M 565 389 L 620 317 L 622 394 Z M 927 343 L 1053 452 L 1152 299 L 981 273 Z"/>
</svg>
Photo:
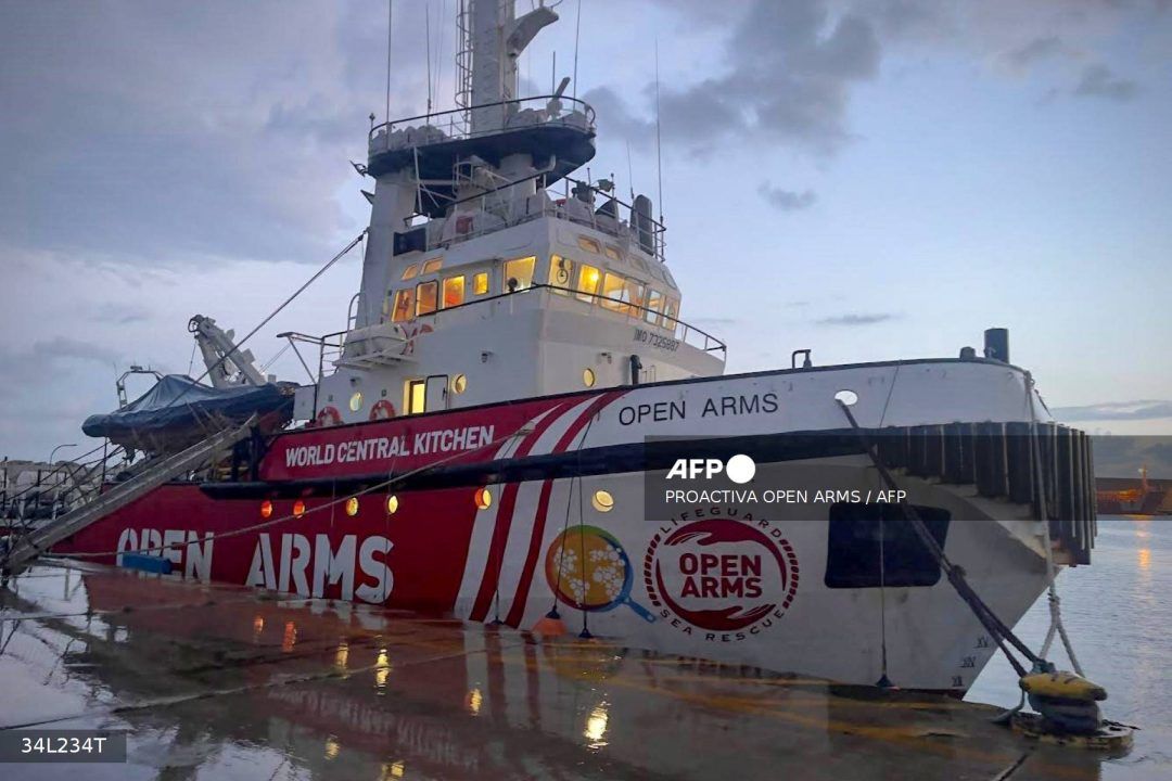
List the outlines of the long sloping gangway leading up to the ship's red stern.
<svg viewBox="0 0 1172 781">
<path fill-rule="evenodd" d="M 198 468 L 213 458 L 216 453 L 248 438 L 255 422 L 257 416 L 253 415 L 240 426 L 218 431 L 186 450 L 154 463 L 149 461 L 145 468 L 130 480 L 120 482 L 101 493 L 93 501 L 69 511 L 60 516 L 56 523 L 35 529 L 18 540 L 7 556 L 0 560 L 0 571 L 6 575 L 19 573 L 29 562 L 62 540 L 77 534 L 116 509 L 125 507 L 168 480 Z"/>
</svg>

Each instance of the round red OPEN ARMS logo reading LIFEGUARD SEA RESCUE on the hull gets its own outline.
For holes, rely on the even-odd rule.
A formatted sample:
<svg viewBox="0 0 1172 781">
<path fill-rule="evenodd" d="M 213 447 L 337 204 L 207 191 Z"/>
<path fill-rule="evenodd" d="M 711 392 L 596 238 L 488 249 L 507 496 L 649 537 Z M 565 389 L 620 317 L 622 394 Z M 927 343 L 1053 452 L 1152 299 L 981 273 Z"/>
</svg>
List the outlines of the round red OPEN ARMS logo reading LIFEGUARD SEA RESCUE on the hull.
<svg viewBox="0 0 1172 781">
<path fill-rule="evenodd" d="M 710 518 L 661 528 L 643 557 L 643 584 L 673 626 L 714 642 L 775 625 L 793 601 L 798 561 L 766 521 Z"/>
</svg>

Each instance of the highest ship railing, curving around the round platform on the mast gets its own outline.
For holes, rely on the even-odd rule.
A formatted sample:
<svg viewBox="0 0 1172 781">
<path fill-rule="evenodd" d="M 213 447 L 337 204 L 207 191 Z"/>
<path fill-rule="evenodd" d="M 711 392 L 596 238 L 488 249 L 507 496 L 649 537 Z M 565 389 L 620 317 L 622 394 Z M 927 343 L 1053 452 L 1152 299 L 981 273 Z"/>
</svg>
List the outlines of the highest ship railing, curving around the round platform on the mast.
<svg viewBox="0 0 1172 781">
<path fill-rule="evenodd" d="M 551 105 L 560 107 L 556 112 Z M 471 116 L 499 119 L 499 125 L 485 130 L 472 130 L 466 118 Z M 431 111 L 414 117 L 393 119 L 372 125 L 369 145 L 372 152 L 384 152 L 411 146 L 428 146 L 450 141 L 464 141 L 492 136 L 502 131 L 532 126 L 563 125 L 594 131 L 594 109 L 574 97 L 538 95 L 512 101 L 482 103 L 469 108 Z"/>
</svg>

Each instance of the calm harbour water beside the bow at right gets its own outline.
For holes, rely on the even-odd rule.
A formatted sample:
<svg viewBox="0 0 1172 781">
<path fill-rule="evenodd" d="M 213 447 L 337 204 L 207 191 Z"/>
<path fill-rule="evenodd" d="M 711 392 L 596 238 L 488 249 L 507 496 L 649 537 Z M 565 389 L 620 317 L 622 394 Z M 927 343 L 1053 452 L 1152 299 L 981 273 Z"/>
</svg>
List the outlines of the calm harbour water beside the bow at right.
<svg viewBox="0 0 1172 781">
<path fill-rule="evenodd" d="M 1101 516 L 1091 561 L 1058 576 L 1063 623 L 1086 677 L 1109 692 L 1104 714 L 1142 728 L 1134 751 L 1105 762 L 1103 777 L 1172 777 L 1172 518 Z M 1049 621 L 1043 595 L 1016 631 L 1037 649 Z M 1061 649 L 1055 638 L 1050 657 L 1069 669 Z M 997 655 L 967 699 L 1017 698 L 1017 676 Z"/>
</svg>

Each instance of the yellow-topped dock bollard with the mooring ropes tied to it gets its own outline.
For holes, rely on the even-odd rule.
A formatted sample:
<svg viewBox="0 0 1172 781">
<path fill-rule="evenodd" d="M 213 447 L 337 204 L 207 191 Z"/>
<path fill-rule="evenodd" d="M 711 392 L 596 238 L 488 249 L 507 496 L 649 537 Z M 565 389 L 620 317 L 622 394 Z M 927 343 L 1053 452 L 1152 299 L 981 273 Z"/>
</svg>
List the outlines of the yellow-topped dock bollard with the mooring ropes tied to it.
<svg viewBox="0 0 1172 781">
<path fill-rule="evenodd" d="M 879 472 L 884 484 L 888 489 L 898 489 L 895 479 L 883 463 L 883 459 L 879 458 L 878 451 L 871 444 L 866 432 L 859 426 L 858 420 L 854 419 L 850 406 L 840 399 L 838 400 L 838 405 L 858 436 L 859 441 Z M 1104 746 L 1112 748 L 1130 747 L 1131 728 L 1125 725 L 1105 722 L 1099 713 L 1098 703 L 1106 699 L 1106 690 L 1083 678 L 1081 670 L 1079 674 L 1058 672 L 1054 664 L 1047 662 L 1044 658 L 1055 632 L 1058 632 L 1062 636 L 1063 644 L 1067 646 L 1071 663 L 1078 669 L 1078 663 L 1075 660 L 1070 645 L 1070 638 L 1067 636 L 1061 615 L 1057 611 L 1056 590 L 1054 587 L 1054 561 L 1049 549 L 1049 530 L 1047 530 L 1045 542 L 1047 575 L 1051 592 L 1051 625 L 1042 653 L 1034 653 L 973 589 L 965 578 L 963 569 L 954 564 L 945 555 L 940 543 L 932 536 L 932 533 L 925 525 L 924 519 L 915 511 L 915 507 L 906 500 L 901 500 L 900 508 L 912 530 L 940 566 L 940 569 L 956 590 L 956 594 L 969 607 L 976 619 L 989 632 L 989 636 L 994 638 L 997 648 L 1001 649 L 1009 664 L 1017 672 L 1018 686 L 1022 690 L 1022 701 L 1015 708 L 999 717 L 997 720 L 1008 721 L 1016 729 L 1037 739 L 1057 739 L 1062 745 L 1092 748 L 1103 748 Z M 1026 665 L 1013 655 L 1010 646 L 1029 660 L 1031 664 L 1030 670 L 1027 670 Z M 1038 717 L 1020 713 L 1027 698 L 1029 698 L 1030 705 L 1038 712 Z"/>
</svg>

